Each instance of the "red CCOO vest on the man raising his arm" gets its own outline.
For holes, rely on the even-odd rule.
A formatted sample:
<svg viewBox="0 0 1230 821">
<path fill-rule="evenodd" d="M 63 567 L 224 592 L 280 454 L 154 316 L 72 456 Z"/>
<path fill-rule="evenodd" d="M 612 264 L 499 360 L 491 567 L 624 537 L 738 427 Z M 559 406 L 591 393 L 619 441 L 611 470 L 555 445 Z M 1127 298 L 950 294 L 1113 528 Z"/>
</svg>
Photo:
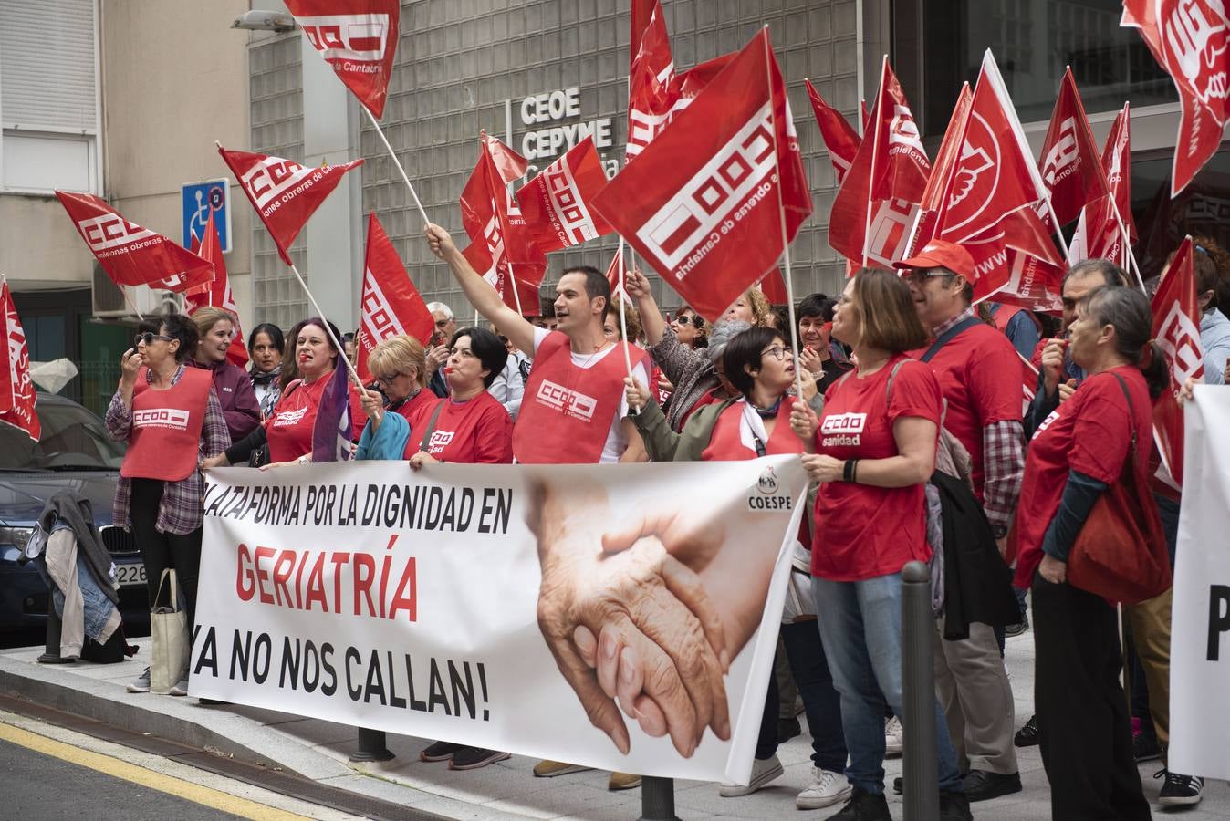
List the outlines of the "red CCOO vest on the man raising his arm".
<svg viewBox="0 0 1230 821">
<path fill-rule="evenodd" d="M 645 359 L 636 345 L 629 345 L 629 354 L 633 367 Z M 513 456 L 522 465 L 597 465 L 624 398 L 625 376 L 617 348 L 592 367 L 578 367 L 567 334 L 547 334 L 534 355 L 513 428 Z"/>
</svg>

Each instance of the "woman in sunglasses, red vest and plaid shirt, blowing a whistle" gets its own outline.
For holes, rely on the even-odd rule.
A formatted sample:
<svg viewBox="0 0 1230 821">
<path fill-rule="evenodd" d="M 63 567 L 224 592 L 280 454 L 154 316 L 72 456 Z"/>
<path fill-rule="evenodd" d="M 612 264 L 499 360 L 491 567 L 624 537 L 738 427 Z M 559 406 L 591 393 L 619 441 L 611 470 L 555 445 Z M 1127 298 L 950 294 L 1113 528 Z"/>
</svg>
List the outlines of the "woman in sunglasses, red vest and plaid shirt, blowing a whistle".
<svg viewBox="0 0 1230 821">
<path fill-rule="evenodd" d="M 116 483 L 113 521 L 132 526 L 145 563 L 150 607 L 162 570 L 175 570 L 189 634 L 204 521 L 198 466 L 230 445 L 213 379 L 187 364 L 196 348 L 197 326 L 182 315 L 165 317 L 156 332 L 138 334 L 121 360 L 119 387 L 106 415 L 111 436 L 128 442 Z M 149 669 L 128 689 L 148 693 Z M 188 694 L 187 670 L 170 692 Z"/>
</svg>

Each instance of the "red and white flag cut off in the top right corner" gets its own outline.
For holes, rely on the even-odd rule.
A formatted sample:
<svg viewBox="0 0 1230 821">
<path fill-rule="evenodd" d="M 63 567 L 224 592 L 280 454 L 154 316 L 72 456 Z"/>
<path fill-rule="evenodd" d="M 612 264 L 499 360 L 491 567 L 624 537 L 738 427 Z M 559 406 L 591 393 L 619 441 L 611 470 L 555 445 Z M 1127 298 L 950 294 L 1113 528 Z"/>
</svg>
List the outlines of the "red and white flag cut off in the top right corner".
<svg viewBox="0 0 1230 821">
<path fill-rule="evenodd" d="M 1226 12 L 1221 2 L 1213 0 L 1123 0 L 1119 25 L 1140 29 L 1154 59 L 1178 91 L 1182 112 L 1170 181 L 1170 195 L 1175 197 L 1216 152 L 1230 118 Z"/>
</svg>

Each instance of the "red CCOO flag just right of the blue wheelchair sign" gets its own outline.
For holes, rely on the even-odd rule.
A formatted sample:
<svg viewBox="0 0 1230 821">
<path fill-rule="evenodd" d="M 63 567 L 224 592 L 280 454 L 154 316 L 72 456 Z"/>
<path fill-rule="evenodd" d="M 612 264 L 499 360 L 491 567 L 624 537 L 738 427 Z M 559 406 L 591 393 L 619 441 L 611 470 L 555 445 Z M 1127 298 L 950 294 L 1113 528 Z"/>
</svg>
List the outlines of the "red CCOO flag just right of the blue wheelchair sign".
<svg viewBox="0 0 1230 821">
<path fill-rule="evenodd" d="M 252 208 L 261 216 L 273 243 L 278 246 L 282 261 L 288 265 L 293 264 L 290 243 L 299 236 L 304 224 L 337 188 L 342 176 L 363 165 L 359 159 L 339 166 L 310 168 L 294 160 L 251 151 L 229 151 L 220 145 L 218 154 L 239 179 L 240 188 L 252 202 Z"/>
</svg>

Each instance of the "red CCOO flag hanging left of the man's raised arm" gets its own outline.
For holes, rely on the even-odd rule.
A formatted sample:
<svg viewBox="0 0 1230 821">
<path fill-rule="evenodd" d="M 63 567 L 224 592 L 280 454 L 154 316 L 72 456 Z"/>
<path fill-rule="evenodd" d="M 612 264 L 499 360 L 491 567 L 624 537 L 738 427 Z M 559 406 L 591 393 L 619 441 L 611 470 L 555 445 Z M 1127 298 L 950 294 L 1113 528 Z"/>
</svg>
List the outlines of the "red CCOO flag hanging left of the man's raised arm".
<svg viewBox="0 0 1230 821">
<path fill-rule="evenodd" d="M 432 340 L 435 321 L 401 264 L 375 211 L 368 214 L 368 252 L 363 259 L 363 297 L 359 331 L 354 334 L 354 366 L 359 379 L 371 381 L 368 356 L 379 343 L 407 333 L 423 345 Z"/>
</svg>

